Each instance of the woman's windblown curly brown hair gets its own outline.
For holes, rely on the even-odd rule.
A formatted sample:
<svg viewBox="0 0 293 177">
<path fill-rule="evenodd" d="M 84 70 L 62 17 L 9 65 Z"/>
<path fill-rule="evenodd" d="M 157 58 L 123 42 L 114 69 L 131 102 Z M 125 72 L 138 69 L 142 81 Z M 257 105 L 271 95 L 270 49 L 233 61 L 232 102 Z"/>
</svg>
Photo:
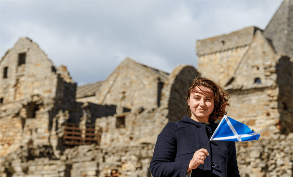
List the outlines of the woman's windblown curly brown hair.
<svg viewBox="0 0 293 177">
<path fill-rule="evenodd" d="M 225 115 L 225 108 L 229 106 L 228 100 L 230 98 L 229 94 L 219 85 L 204 77 L 196 77 L 194 79 L 193 84 L 187 91 L 186 100 L 188 101 L 190 98 L 191 91 L 195 90 L 196 86 L 203 86 L 210 88 L 213 92 L 214 98 L 214 110 L 209 116 L 209 122 L 214 122 L 217 119 L 223 117 Z M 187 112 L 189 113 L 189 117 L 191 117 L 190 106 L 187 106 Z"/>
</svg>

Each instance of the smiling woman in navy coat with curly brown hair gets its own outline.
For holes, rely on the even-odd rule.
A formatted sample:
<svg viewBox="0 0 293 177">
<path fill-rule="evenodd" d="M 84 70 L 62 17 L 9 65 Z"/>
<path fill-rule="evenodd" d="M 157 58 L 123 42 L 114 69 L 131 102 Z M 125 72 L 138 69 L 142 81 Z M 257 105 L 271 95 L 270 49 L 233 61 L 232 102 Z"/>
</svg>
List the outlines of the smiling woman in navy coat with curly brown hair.
<svg viewBox="0 0 293 177">
<path fill-rule="evenodd" d="M 234 142 L 212 141 L 205 149 L 218 125 L 214 121 L 229 106 L 228 93 L 196 77 L 186 99 L 189 117 L 169 122 L 158 135 L 150 164 L 153 176 L 240 176 Z"/>
</svg>

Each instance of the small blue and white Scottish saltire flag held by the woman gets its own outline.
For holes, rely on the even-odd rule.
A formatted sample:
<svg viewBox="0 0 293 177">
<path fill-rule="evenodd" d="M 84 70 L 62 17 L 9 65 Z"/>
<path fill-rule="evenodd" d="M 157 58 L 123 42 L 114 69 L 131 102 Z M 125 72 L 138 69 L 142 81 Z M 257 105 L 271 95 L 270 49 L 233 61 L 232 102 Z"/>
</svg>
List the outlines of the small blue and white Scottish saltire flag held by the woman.
<svg viewBox="0 0 293 177">
<path fill-rule="evenodd" d="M 210 141 L 222 140 L 230 142 L 245 142 L 258 140 L 261 135 L 252 131 L 247 125 L 237 122 L 224 115 L 214 131 Z"/>
</svg>

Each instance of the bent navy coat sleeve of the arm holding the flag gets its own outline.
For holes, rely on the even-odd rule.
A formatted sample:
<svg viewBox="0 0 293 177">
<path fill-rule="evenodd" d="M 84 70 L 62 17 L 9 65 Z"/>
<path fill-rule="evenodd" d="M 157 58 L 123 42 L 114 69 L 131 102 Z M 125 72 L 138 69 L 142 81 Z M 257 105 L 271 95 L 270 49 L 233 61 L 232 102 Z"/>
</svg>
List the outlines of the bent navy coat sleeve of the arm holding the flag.
<svg viewBox="0 0 293 177">
<path fill-rule="evenodd" d="M 150 169 L 154 177 L 186 177 L 190 161 L 176 161 L 177 140 L 175 123 L 168 123 L 158 135 Z"/>
</svg>

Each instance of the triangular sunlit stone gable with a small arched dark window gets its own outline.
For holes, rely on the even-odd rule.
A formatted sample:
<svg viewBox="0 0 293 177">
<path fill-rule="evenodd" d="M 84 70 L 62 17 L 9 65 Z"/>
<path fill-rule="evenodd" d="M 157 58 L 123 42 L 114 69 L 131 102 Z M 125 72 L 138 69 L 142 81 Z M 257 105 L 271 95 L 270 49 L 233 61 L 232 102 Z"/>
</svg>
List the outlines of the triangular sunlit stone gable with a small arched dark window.
<svg viewBox="0 0 293 177">
<path fill-rule="evenodd" d="M 281 55 L 277 55 L 260 30 L 255 33 L 226 89 L 274 87 L 277 73 L 273 71 Z"/>
</svg>

